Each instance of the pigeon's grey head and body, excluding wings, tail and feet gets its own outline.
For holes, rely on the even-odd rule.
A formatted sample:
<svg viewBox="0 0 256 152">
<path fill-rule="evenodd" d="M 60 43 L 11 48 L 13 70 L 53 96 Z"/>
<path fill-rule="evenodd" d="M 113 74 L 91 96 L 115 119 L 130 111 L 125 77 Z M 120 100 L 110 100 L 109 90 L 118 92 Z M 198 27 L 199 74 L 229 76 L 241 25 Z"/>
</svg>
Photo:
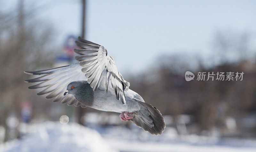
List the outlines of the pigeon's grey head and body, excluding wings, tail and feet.
<svg viewBox="0 0 256 152">
<path fill-rule="evenodd" d="M 72 86 L 74 87 L 73 89 L 71 88 Z M 109 90 L 108 93 L 102 90 L 93 91 L 87 81 L 71 82 L 68 84 L 67 92 L 74 95 L 77 101 L 85 106 L 101 111 L 121 113 L 123 111 L 132 112 L 140 110 L 138 102 L 133 99 L 135 96 L 140 97 L 140 95 L 131 89 L 125 91 L 125 105 L 116 99 L 113 90 Z M 144 102 L 141 97 L 140 100 Z"/>
</svg>

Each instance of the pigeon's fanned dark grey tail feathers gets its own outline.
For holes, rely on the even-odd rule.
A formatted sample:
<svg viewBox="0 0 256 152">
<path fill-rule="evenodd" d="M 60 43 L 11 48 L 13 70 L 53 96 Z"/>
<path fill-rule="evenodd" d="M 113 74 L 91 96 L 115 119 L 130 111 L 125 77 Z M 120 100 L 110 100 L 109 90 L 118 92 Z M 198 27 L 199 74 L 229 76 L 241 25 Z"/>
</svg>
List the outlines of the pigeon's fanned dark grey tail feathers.
<svg viewBox="0 0 256 152">
<path fill-rule="evenodd" d="M 138 100 L 136 100 L 138 101 Z M 165 123 L 164 117 L 158 109 L 151 104 L 139 102 L 140 110 L 133 111 L 135 117 L 131 119 L 137 126 L 141 127 L 144 131 L 154 135 L 163 134 Z"/>
</svg>

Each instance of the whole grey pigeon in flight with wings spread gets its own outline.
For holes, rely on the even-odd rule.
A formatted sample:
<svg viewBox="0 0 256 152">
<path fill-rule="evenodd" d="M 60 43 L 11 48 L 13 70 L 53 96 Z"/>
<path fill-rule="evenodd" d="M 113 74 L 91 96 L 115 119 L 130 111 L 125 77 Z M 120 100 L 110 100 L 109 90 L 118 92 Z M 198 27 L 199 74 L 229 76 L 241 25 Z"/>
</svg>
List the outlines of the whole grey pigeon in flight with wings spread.
<svg viewBox="0 0 256 152">
<path fill-rule="evenodd" d="M 28 88 L 41 88 L 37 95 L 47 94 L 46 98 L 53 98 L 53 102 L 121 113 L 121 120 L 132 121 L 153 135 L 163 134 L 165 122 L 162 114 L 129 89 L 130 83 L 117 70 L 107 49 L 82 37 L 78 37 L 75 43 L 80 48 L 74 49 L 78 54 L 75 59 L 79 63 L 25 71 L 27 74 L 40 75 L 25 80 L 38 82 Z"/>
</svg>

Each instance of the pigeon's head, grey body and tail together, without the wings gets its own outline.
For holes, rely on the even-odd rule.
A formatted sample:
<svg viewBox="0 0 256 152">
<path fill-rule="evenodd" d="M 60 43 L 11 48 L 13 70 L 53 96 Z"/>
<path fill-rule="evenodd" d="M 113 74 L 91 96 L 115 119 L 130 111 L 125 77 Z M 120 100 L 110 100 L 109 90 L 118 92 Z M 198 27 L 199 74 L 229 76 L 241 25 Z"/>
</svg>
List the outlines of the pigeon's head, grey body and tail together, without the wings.
<svg viewBox="0 0 256 152">
<path fill-rule="evenodd" d="M 72 86 L 74 88 L 71 88 Z M 108 93 L 102 90 L 93 91 L 87 81 L 71 82 L 66 92 L 74 95 L 78 102 L 93 109 L 118 113 L 133 112 L 135 117 L 131 121 L 151 134 L 158 135 L 164 131 L 164 118 L 160 111 L 145 103 L 143 98 L 131 89 L 125 91 L 125 105 L 116 99 L 114 90 L 109 90 Z"/>
</svg>

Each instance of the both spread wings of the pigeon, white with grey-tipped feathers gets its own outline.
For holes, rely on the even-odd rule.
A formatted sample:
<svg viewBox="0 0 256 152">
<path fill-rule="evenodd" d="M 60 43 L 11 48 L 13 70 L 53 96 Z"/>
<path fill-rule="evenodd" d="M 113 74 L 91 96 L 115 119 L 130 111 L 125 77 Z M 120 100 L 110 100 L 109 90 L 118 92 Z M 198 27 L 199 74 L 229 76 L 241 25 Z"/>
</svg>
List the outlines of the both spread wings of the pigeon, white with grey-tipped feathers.
<svg viewBox="0 0 256 152">
<path fill-rule="evenodd" d="M 114 59 L 108 55 L 107 49 L 97 43 L 84 40 L 78 37 L 75 41 L 81 49 L 74 49 L 79 54 L 76 56 L 77 64 L 61 66 L 57 68 L 25 72 L 32 75 L 43 76 L 26 80 L 26 82 L 40 82 L 30 86 L 30 89 L 44 88 L 38 95 L 48 94 L 46 98 L 54 98 L 53 102 L 62 104 L 86 107 L 76 101 L 73 95 L 64 96 L 67 85 L 72 81 L 87 80 L 90 86 L 96 91 L 111 88 L 111 92 L 116 94 L 116 99 L 125 104 L 124 91 L 129 89 L 130 83 L 125 81 L 121 73 L 117 70 Z M 110 85 L 111 84 L 111 85 Z"/>
</svg>

